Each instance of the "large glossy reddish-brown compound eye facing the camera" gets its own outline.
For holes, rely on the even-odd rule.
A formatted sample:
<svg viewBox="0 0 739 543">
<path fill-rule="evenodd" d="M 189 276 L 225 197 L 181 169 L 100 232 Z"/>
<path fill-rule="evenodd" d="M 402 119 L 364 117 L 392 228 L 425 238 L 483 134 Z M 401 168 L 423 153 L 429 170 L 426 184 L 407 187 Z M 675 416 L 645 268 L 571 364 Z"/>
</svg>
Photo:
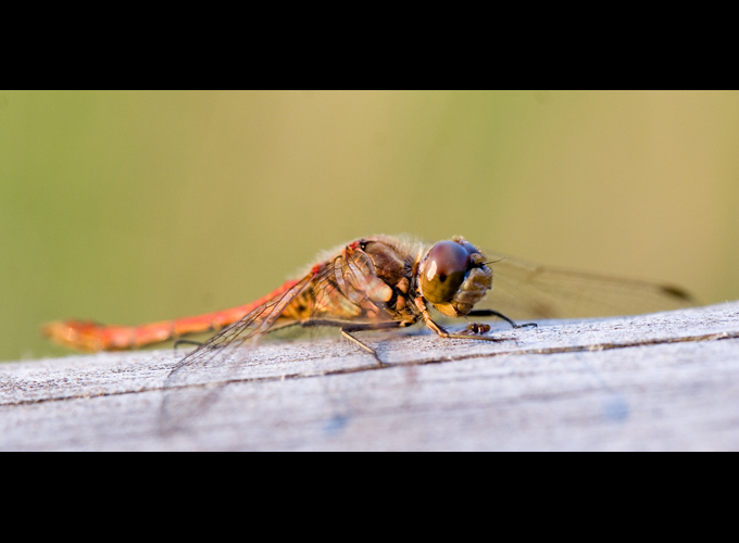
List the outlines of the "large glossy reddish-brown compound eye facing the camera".
<svg viewBox="0 0 739 543">
<path fill-rule="evenodd" d="M 469 253 L 454 241 L 439 241 L 428 252 L 421 292 L 433 304 L 450 302 L 469 265 Z"/>
</svg>

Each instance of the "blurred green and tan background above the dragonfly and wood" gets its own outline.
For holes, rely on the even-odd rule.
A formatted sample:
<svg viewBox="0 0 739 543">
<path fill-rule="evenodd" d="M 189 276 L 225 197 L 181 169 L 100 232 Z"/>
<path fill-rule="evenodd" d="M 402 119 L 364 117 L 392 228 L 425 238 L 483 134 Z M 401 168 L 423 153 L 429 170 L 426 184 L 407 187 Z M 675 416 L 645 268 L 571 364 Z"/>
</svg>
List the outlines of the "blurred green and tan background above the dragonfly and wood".
<svg viewBox="0 0 739 543">
<path fill-rule="evenodd" d="M 243 304 L 321 249 L 462 233 L 739 298 L 738 92 L 0 91 L 0 359 Z"/>
</svg>

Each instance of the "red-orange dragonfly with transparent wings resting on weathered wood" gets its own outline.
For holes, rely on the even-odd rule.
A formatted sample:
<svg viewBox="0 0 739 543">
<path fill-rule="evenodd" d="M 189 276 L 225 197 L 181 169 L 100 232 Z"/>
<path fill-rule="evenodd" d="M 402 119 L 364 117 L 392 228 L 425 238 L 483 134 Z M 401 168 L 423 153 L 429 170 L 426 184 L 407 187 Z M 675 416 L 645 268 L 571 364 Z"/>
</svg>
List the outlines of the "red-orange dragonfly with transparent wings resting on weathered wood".
<svg viewBox="0 0 739 543">
<path fill-rule="evenodd" d="M 494 286 L 494 288 L 493 288 Z M 574 318 L 649 313 L 694 305 L 684 290 L 650 281 L 551 268 L 487 252 L 462 236 L 426 243 L 405 236 L 371 236 L 324 253 L 297 278 L 259 300 L 225 311 L 140 326 L 68 319 L 42 327 L 63 345 L 82 351 L 136 349 L 188 334 L 215 331 L 175 370 L 236 354 L 286 327 L 333 326 L 383 366 L 358 332 L 423 323 L 444 339 L 500 341 L 490 325 L 536 327 L 519 319 Z M 441 318 L 464 318 L 450 331 Z"/>
</svg>

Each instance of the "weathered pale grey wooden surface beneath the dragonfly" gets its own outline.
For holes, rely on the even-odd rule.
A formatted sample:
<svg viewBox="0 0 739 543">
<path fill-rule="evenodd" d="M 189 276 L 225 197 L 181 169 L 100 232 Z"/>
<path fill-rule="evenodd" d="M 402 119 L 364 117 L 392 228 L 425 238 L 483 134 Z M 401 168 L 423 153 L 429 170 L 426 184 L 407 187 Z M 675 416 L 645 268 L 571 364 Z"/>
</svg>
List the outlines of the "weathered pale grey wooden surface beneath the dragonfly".
<svg viewBox="0 0 739 543">
<path fill-rule="evenodd" d="M 168 392 L 181 351 L 3 364 L 0 450 L 739 450 L 737 302 L 494 329 L 364 336 L 386 368 L 341 340 L 267 343 Z"/>
</svg>

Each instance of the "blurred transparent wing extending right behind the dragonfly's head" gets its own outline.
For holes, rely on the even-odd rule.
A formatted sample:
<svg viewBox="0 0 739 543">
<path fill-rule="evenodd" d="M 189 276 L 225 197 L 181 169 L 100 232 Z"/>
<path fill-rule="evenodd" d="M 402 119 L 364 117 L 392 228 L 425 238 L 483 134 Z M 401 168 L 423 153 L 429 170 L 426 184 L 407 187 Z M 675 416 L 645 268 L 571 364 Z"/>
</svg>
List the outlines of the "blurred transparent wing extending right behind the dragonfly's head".
<svg viewBox="0 0 739 543">
<path fill-rule="evenodd" d="M 696 305 L 690 294 L 676 287 L 486 254 L 492 291 L 475 310 L 494 310 L 513 319 L 638 315 Z"/>
</svg>

